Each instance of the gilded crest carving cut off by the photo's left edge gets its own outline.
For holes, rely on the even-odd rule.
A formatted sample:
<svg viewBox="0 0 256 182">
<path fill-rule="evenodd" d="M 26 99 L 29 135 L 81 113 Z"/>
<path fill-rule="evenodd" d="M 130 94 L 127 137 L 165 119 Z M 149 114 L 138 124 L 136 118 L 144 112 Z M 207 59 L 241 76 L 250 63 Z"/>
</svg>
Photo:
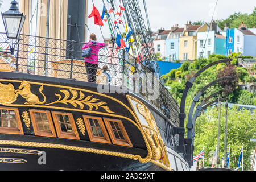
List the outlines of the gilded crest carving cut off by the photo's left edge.
<svg viewBox="0 0 256 182">
<path fill-rule="evenodd" d="M 0 83 L 0 104 L 11 104 L 16 101 L 17 97 L 13 84 Z"/>
</svg>

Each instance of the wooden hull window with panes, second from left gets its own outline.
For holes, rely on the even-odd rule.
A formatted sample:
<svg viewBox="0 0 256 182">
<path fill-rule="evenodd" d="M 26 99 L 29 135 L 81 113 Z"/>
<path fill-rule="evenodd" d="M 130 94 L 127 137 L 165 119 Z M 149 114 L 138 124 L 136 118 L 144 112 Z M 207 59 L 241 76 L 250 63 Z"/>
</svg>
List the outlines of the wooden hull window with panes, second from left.
<svg viewBox="0 0 256 182">
<path fill-rule="evenodd" d="M 30 109 L 30 116 L 35 135 L 56 137 L 50 111 Z"/>
</svg>

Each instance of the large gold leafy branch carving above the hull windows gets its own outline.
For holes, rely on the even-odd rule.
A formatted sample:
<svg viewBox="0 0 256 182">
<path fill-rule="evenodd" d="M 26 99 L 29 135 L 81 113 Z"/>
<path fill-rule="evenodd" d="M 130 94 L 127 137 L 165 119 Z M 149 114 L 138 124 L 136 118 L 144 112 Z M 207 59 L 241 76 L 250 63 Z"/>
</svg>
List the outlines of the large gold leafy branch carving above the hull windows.
<svg viewBox="0 0 256 182">
<path fill-rule="evenodd" d="M 69 91 L 72 93 L 72 97 L 70 99 L 69 99 L 69 97 L 70 97 Z M 84 109 L 84 105 L 87 105 L 87 106 L 89 106 L 89 110 L 92 110 L 93 107 L 95 107 L 95 110 L 98 110 L 98 107 L 102 107 L 108 113 L 114 113 L 113 111 L 111 111 L 109 109 L 108 106 L 104 106 L 104 104 L 106 104 L 106 102 L 97 102 L 98 99 L 92 98 L 93 96 L 86 97 L 85 94 L 82 93 L 81 91 L 79 92 L 80 97 L 78 96 L 78 93 L 76 90 L 69 89 L 69 91 L 68 90 L 60 90 L 60 92 L 64 93 L 64 98 L 62 98 L 60 94 L 55 94 L 55 96 L 59 97 L 59 99 L 55 102 L 52 102 L 52 103 L 49 103 L 46 105 L 52 105 L 52 104 L 56 104 L 56 103 L 61 103 L 61 104 L 67 105 L 69 103 L 69 104 L 72 104 L 76 108 L 77 108 L 77 106 L 80 106 L 80 109 Z"/>
</svg>

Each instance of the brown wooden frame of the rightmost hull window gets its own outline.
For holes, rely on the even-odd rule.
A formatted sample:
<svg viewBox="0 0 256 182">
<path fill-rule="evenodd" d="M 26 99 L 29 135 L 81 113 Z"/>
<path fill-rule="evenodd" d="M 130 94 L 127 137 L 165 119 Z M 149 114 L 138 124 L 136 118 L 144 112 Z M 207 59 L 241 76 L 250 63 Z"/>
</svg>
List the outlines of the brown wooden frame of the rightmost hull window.
<svg viewBox="0 0 256 182">
<path fill-rule="evenodd" d="M 113 144 L 117 144 L 119 146 L 133 147 L 133 144 L 131 144 L 131 140 L 130 140 L 130 138 L 129 138 L 121 120 L 119 120 L 119 119 L 110 119 L 110 118 L 103 118 L 103 120 L 105 122 L 106 129 L 109 132 L 109 135 L 110 135 L 110 138 L 111 138 Z M 125 138 L 124 140 L 115 138 L 115 134 L 114 134 L 114 131 L 112 129 L 112 126 L 110 125 L 110 122 L 117 122 L 117 124 L 119 126 L 119 129 L 121 130 L 122 135 Z"/>
</svg>

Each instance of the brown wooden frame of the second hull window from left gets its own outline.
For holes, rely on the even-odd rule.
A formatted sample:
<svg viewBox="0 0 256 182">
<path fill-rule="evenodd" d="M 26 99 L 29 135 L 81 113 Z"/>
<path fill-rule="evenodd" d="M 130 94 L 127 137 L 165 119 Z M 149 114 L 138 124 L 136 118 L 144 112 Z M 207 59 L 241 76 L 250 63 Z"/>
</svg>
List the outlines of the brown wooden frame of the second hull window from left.
<svg viewBox="0 0 256 182">
<path fill-rule="evenodd" d="M 49 128 L 51 131 L 46 131 L 46 130 L 39 130 L 38 128 L 38 123 L 36 121 L 35 113 L 46 113 L 47 119 L 49 122 Z M 47 110 L 36 110 L 36 109 L 30 109 L 30 117 L 32 121 L 32 126 L 34 128 L 34 133 L 37 136 L 43 136 L 43 137 L 56 137 L 54 125 L 52 122 L 52 116 L 51 112 Z"/>
</svg>

